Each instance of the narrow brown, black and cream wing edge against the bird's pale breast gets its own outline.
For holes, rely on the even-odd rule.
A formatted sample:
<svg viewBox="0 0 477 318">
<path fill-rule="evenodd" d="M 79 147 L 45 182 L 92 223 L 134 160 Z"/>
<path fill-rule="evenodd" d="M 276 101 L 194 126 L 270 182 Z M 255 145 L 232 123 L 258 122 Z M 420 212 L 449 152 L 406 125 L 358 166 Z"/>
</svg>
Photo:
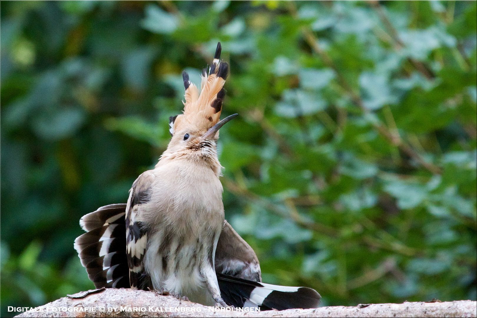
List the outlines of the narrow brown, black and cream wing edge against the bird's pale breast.
<svg viewBox="0 0 477 318">
<path fill-rule="evenodd" d="M 129 267 L 129 283 L 133 289 L 153 288 L 151 278 L 144 268 L 147 233 L 141 219 L 144 205 L 149 202 L 149 188 L 154 182 L 154 174 L 141 174 L 131 188 L 126 206 L 126 258 Z"/>
</svg>

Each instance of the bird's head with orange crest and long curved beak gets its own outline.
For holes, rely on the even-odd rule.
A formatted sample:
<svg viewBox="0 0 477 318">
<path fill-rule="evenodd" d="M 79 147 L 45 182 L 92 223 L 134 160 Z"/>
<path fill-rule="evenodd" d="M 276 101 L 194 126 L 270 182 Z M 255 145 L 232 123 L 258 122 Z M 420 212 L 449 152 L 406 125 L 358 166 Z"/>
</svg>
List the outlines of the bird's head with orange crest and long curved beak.
<svg viewBox="0 0 477 318">
<path fill-rule="evenodd" d="M 220 120 L 225 97 L 224 83 L 228 63 L 220 60 L 221 46 L 217 45 L 212 65 L 202 71 L 201 92 L 190 82 L 187 72 L 182 73 L 186 89 L 184 112 L 169 118 L 171 141 L 162 158 L 188 158 L 216 162 L 218 130 L 238 116 L 233 114 Z"/>
</svg>

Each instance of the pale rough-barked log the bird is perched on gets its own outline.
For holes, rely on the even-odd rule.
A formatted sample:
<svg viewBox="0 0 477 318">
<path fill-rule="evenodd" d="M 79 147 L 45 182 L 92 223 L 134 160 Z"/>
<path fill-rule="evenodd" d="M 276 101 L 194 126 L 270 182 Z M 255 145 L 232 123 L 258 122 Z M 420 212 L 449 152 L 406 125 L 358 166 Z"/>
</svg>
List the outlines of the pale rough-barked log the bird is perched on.
<svg viewBox="0 0 477 318">
<path fill-rule="evenodd" d="M 90 290 L 62 297 L 15 317 L 476 317 L 477 302 L 404 302 L 355 307 L 235 311 L 126 288 Z"/>
</svg>

